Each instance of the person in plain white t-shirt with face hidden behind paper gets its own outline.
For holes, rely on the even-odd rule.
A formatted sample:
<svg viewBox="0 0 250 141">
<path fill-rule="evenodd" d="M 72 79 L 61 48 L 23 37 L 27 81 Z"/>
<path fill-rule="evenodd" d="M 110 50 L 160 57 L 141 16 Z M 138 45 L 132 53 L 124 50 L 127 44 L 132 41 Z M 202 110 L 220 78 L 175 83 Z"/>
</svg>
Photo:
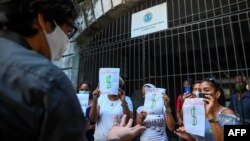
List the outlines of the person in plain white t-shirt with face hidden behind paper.
<svg viewBox="0 0 250 141">
<path fill-rule="evenodd" d="M 133 118 L 133 104 L 121 89 L 123 85 L 124 81 L 120 78 L 118 95 L 100 95 L 99 88 L 94 90 L 90 120 L 96 122 L 95 141 L 107 141 L 108 132 L 113 126 L 114 116 L 121 118 L 123 114 L 126 114 L 126 121 Z"/>
</svg>

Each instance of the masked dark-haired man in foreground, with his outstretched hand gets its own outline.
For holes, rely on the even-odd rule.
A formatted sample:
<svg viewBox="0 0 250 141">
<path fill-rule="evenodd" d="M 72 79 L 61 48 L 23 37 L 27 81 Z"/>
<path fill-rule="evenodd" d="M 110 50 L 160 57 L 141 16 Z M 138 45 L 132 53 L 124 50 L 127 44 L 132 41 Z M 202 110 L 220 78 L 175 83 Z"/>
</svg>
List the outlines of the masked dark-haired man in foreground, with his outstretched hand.
<svg viewBox="0 0 250 141">
<path fill-rule="evenodd" d="M 0 0 L 1 141 L 84 140 L 76 92 L 50 61 L 62 57 L 74 35 L 78 9 L 72 0 Z M 114 126 L 109 138 L 143 129 L 130 123 Z"/>
</svg>

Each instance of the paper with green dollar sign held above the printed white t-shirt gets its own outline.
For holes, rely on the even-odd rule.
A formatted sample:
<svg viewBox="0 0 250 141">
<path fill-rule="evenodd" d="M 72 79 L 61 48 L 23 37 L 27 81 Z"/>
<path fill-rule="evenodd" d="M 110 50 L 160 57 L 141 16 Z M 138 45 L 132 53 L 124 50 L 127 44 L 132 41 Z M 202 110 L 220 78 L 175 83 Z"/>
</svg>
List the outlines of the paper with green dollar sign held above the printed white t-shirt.
<svg viewBox="0 0 250 141">
<path fill-rule="evenodd" d="M 163 88 L 148 88 L 146 89 L 144 109 L 143 111 L 150 114 L 163 114 L 163 98 L 162 94 L 166 89 Z"/>
</svg>

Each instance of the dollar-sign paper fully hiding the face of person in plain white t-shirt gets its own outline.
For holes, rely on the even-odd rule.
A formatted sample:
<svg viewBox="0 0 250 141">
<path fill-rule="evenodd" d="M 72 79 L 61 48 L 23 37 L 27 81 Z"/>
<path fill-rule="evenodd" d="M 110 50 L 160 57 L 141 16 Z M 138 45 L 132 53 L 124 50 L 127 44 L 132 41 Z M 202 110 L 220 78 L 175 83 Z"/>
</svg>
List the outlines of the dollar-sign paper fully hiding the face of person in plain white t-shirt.
<svg viewBox="0 0 250 141">
<path fill-rule="evenodd" d="M 120 68 L 100 68 L 99 89 L 102 94 L 118 95 Z"/>
</svg>

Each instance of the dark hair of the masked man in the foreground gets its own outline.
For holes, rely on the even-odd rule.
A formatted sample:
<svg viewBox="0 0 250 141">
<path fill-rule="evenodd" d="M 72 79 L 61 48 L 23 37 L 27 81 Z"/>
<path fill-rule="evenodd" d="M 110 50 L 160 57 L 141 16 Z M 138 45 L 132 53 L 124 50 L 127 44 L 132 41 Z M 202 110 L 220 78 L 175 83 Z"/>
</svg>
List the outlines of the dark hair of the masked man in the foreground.
<svg viewBox="0 0 250 141">
<path fill-rule="evenodd" d="M 38 13 L 43 15 L 45 21 L 70 24 L 78 16 L 79 7 L 72 0 L 1 0 L 0 30 L 33 36 L 37 33 L 32 26 Z"/>
</svg>

